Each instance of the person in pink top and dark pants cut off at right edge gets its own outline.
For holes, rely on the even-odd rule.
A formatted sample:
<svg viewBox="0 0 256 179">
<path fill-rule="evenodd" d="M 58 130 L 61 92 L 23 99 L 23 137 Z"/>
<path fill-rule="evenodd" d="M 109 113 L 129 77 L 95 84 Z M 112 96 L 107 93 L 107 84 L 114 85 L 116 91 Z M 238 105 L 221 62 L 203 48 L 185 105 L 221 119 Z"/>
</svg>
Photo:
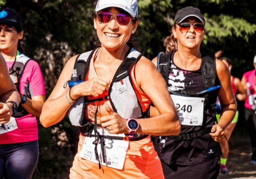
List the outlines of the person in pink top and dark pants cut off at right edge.
<svg viewBox="0 0 256 179">
<path fill-rule="evenodd" d="M 251 164 L 256 165 L 256 85 L 255 85 L 255 69 L 256 69 L 256 56 L 253 59 L 254 69 L 247 71 L 243 74 L 241 84 L 247 92 L 247 99 L 244 103 L 244 115 L 248 124 L 249 135 L 251 139 L 252 157 Z"/>
</svg>

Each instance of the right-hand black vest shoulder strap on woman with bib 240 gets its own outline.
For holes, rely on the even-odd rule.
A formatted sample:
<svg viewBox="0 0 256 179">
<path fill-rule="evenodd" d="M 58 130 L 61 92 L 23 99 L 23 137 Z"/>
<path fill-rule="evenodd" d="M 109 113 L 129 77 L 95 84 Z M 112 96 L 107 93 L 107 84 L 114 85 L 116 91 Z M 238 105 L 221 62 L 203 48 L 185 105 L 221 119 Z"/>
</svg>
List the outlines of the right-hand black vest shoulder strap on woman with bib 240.
<svg viewBox="0 0 256 179">
<path fill-rule="evenodd" d="M 216 58 L 202 54 L 201 69 L 205 87 L 213 87 L 216 81 Z"/>
</svg>

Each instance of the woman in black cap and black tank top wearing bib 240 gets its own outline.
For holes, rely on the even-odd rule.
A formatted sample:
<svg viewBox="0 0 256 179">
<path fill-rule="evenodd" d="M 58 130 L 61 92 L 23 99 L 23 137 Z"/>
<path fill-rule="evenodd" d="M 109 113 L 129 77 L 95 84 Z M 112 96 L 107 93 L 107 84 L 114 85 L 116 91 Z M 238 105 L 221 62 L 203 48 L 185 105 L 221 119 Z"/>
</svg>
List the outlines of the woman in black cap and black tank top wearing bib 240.
<svg viewBox="0 0 256 179">
<path fill-rule="evenodd" d="M 165 178 L 217 178 L 222 154 L 218 142 L 235 115 L 227 67 L 200 53 L 204 34 L 201 11 L 192 6 L 182 8 L 175 15 L 171 37 L 164 42 L 167 54 L 152 60 L 166 80 L 181 122 L 179 136 L 154 140 Z M 207 89 L 215 90 L 199 93 Z M 216 124 L 213 109 L 217 96 L 222 116 Z M 154 112 L 152 109 L 152 115 L 157 115 Z"/>
</svg>

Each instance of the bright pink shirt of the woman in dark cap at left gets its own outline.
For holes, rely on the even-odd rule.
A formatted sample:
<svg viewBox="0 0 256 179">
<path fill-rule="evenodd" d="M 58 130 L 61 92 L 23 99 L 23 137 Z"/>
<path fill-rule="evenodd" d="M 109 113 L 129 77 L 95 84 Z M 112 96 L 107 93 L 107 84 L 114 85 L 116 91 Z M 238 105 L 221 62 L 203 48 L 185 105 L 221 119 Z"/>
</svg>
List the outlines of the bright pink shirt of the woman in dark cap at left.
<svg viewBox="0 0 256 179">
<path fill-rule="evenodd" d="M 14 61 L 6 61 L 8 69 L 12 67 Z M 45 95 L 45 83 L 41 69 L 36 61 L 28 61 L 24 73 L 20 80 L 20 92 L 23 94 L 25 85 L 29 82 L 31 96 Z M 0 144 L 14 144 L 38 140 L 37 118 L 32 114 L 22 118 L 15 118 L 18 128 L 0 135 Z"/>
</svg>

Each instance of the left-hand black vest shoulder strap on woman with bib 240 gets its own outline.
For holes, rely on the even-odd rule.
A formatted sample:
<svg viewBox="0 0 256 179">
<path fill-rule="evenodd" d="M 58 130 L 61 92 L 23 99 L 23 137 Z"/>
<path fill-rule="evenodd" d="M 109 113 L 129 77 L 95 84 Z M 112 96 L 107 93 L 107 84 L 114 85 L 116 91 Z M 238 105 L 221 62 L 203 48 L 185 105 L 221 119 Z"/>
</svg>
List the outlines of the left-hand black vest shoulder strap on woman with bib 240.
<svg viewBox="0 0 256 179">
<path fill-rule="evenodd" d="M 168 84 L 171 54 L 160 52 L 157 56 L 157 70 L 164 77 L 166 84 Z"/>
</svg>

